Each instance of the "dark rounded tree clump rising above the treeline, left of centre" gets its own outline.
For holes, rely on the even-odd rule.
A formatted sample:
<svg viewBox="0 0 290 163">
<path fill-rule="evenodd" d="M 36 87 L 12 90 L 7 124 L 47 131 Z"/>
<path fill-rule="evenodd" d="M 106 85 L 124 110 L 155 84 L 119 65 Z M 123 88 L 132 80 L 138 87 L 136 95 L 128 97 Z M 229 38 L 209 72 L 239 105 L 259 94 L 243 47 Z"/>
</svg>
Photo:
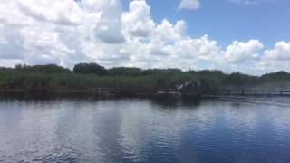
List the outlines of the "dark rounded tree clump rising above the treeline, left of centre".
<svg viewBox="0 0 290 163">
<path fill-rule="evenodd" d="M 104 75 L 106 73 L 106 69 L 97 63 L 79 63 L 73 67 L 73 72 Z"/>
</svg>

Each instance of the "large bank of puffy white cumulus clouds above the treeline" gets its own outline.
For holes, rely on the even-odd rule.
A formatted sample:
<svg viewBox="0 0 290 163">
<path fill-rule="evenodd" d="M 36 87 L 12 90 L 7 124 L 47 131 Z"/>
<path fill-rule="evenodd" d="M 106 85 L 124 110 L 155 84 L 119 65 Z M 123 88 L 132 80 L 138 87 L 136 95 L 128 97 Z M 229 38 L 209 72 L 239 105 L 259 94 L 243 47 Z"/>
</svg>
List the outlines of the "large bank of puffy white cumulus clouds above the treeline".
<svg viewBox="0 0 290 163">
<path fill-rule="evenodd" d="M 199 2 L 182 5 L 193 9 Z M 107 67 L 259 73 L 285 70 L 281 61 L 290 61 L 290 43 L 281 41 L 266 50 L 252 39 L 223 48 L 207 34 L 190 37 L 187 29 L 183 20 L 155 22 L 146 1 L 132 1 L 124 11 L 120 0 L 0 0 L 0 65 L 56 63 L 72 68 L 78 62 L 98 62 Z"/>
</svg>

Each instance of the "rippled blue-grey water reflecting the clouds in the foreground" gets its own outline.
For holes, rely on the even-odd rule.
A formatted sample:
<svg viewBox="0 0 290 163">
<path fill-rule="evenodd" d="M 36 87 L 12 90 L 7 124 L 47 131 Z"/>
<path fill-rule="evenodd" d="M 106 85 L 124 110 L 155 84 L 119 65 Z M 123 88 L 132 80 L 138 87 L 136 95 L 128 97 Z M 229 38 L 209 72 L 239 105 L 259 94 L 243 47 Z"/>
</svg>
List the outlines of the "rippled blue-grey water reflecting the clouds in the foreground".
<svg viewBox="0 0 290 163">
<path fill-rule="evenodd" d="M 290 99 L 0 101 L 0 162 L 288 163 Z"/>
</svg>

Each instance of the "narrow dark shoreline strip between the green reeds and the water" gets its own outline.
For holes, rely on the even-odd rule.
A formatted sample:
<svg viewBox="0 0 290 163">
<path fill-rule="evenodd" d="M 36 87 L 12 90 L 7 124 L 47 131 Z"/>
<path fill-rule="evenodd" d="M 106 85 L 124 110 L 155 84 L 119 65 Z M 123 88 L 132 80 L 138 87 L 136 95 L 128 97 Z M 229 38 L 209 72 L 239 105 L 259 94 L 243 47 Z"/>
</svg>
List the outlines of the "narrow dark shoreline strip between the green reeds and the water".
<svg viewBox="0 0 290 163">
<path fill-rule="evenodd" d="M 159 93 L 162 92 L 162 93 Z M 290 94 L 202 94 L 182 93 L 179 91 L 123 91 L 110 89 L 55 89 L 36 90 L 26 89 L 0 89 L 0 98 L 27 98 L 27 99 L 50 99 L 50 98 L 75 98 L 75 99 L 154 99 L 163 101 L 200 101 L 206 99 L 223 99 L 233 97 L 290 97 Z"/>
</svg>

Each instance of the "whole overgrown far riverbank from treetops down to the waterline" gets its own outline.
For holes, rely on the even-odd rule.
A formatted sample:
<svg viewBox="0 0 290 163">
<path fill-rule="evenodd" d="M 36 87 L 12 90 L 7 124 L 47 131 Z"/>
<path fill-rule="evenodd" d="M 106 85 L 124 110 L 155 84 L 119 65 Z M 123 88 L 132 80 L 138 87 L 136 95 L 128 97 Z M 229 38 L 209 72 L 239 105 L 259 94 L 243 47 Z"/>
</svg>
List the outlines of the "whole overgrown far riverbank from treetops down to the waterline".
<svg viewBox="0 0 290 163">
<path fill-rule="evenodd" d="M 82 66 L 88 68 L 92 65 L 84 64 Z M 169 97 L 179 96 L 179 92 L 182 93 L 182 96 L 198 94 L 285 95 L 290 94 L 290 91 L 287 92 L 287 89 L 290 88 L 289 81 L 290 73 L 287 72 L 250 76 L 239 72 L 227 74 L 220 71 L 183 72 L 179 69 L 141 70 L 126 67 L 102 69 L 102 73 L 95 69 L 90 72 L 73 69 L 72 72 L 56 65 L 0 68 L 0 93 L 3 94 L 89 94 L 90 96 L 105 97 L 146 97 L 156 95 L 158 91 L 165 91 L 162 96 Z M 100 88 L 101 91 L 98 90 Z M 267 92 L 269 90 L 280 92 L 269 93 Z"/>
</svg>

